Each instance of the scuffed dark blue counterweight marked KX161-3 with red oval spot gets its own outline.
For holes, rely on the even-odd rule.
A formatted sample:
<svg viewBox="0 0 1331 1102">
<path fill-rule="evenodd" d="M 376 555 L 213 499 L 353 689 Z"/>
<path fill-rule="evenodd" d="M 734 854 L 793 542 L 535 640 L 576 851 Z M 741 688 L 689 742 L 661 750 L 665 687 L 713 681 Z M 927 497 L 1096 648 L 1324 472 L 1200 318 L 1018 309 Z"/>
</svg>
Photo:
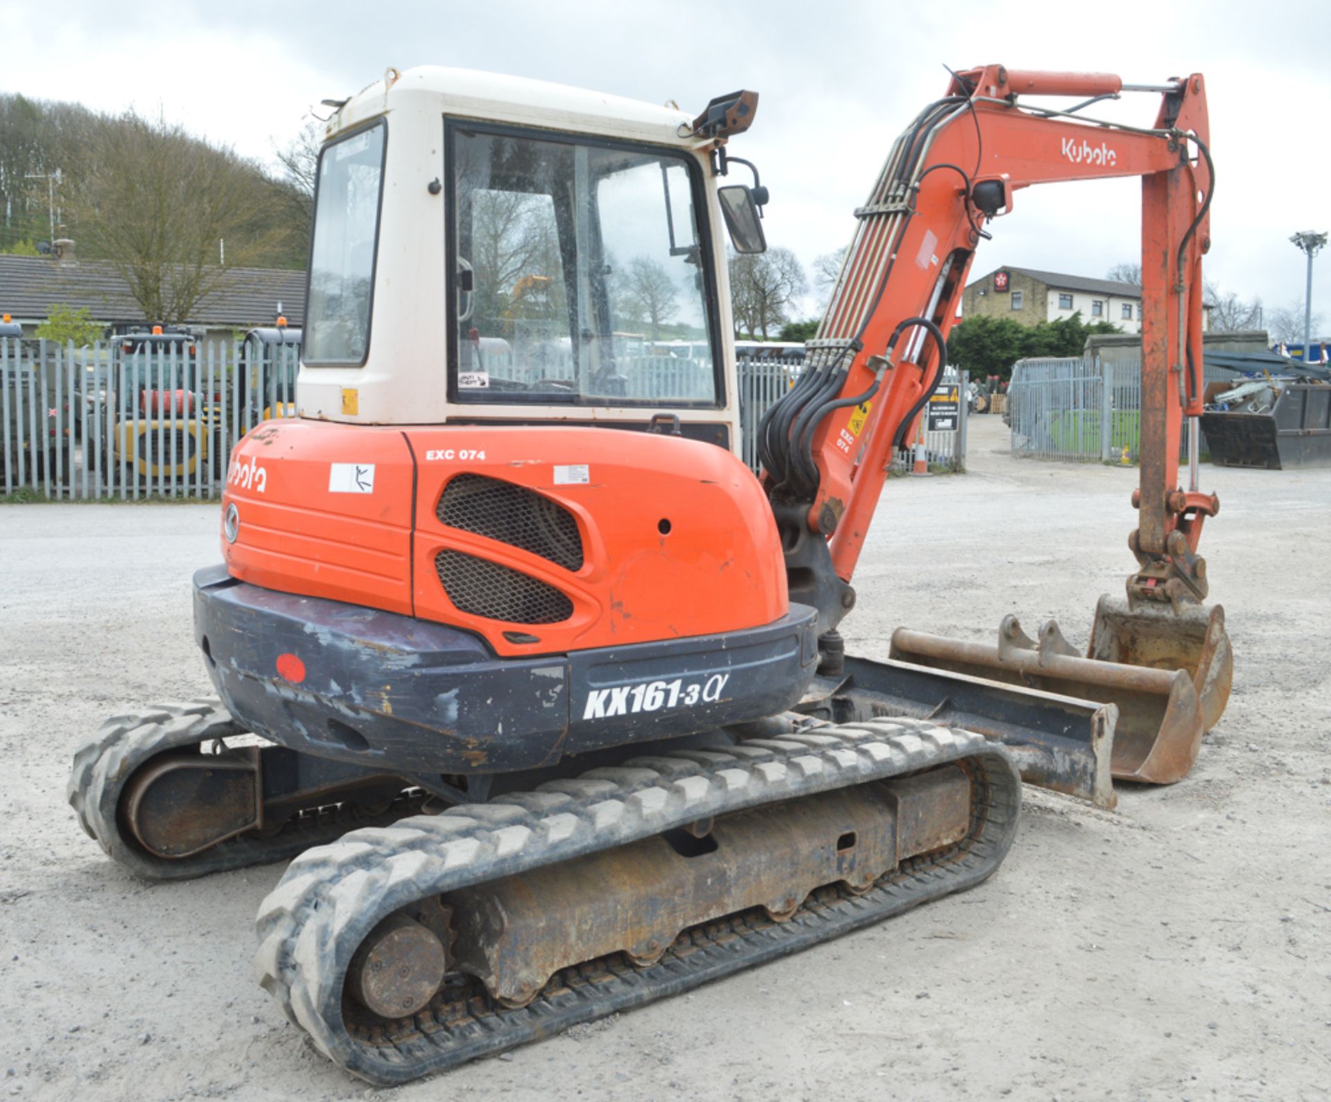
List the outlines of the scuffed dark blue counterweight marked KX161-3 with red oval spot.
<svg viewBox="0 0 1331 1102">
<path fill-rule="evenodd" d="M 816 616 L 727 635 L 500 659 L 430 620 L 194 575 L 194 639 L 226 707 L 291 749 L 401 773 L 502 773 L 793 707 Z"/>
</svg>

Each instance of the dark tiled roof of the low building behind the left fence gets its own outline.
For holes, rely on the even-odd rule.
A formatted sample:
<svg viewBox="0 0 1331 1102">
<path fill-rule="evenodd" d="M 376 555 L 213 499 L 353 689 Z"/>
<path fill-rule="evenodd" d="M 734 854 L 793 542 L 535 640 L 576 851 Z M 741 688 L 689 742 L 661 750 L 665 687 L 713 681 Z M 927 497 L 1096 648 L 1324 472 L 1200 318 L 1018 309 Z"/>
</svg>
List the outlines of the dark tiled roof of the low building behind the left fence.
<svg viewBox="0 0 1331 1102">
<path fill-rule="evenodd" d="M 278 302 L 291 325 L 303 325 L 303 272 L 229 268 L 217 287 L 200 299 L 184 323 L 272 325 Z M 95 319 L 104 322 L 150 325 L 162 321 L 144 317 L 129 293 L 129 285 L 109 261 L 81 260 L 75 265 L 61 265 L 52 257 L 0 256 L 0 313 L 12 314 L 19 321 L 37 321 L 45 318 L 55 303 L 75 310 L 87 307 Z"/>
</svg>

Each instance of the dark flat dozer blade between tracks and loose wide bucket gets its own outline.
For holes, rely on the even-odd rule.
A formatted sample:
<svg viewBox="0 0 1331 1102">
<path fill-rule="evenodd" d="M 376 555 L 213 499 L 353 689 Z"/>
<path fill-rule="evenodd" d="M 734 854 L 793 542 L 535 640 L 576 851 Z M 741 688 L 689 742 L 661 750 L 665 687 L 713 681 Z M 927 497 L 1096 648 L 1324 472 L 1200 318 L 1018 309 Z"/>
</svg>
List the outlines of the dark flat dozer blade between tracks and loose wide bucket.
<svg viewBox="0 0 1331 1102">
<path fill-rule="evenodd" d="M 1110 767 L 1118 708 L 910 661 L 845 657 L 836 677 L 817 677 L 799 705 L 833 723 L 909 716 L 974 731 L 1002 743 L 1026 784 L 1118 803 Z"/>
</svg>

